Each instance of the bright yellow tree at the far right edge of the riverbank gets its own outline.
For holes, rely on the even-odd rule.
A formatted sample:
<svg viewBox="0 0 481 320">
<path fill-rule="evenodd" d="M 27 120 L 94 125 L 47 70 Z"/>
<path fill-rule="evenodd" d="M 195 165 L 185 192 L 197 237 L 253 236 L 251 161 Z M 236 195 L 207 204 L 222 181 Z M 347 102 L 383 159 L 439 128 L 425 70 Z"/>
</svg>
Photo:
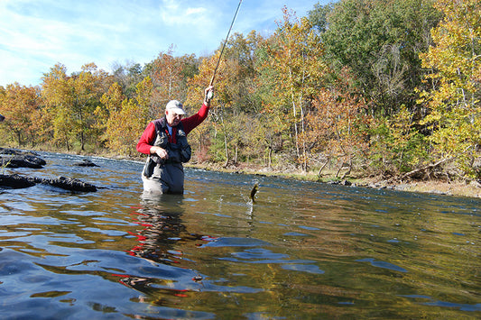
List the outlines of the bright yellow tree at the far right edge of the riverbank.
<svg viewBox="0 0 481 320">
<path fill-rule="evenodd" d="M 432 90 L 421 93 L 429 108 L 434 159 L 455 158 L 467 177 L 481 177 L 473 167 L 481 145 L 481 3 L 477 0 L 438 0 L 444 14 L 432 30 L 434 45 L 422 54 Z"/>
</svg>

